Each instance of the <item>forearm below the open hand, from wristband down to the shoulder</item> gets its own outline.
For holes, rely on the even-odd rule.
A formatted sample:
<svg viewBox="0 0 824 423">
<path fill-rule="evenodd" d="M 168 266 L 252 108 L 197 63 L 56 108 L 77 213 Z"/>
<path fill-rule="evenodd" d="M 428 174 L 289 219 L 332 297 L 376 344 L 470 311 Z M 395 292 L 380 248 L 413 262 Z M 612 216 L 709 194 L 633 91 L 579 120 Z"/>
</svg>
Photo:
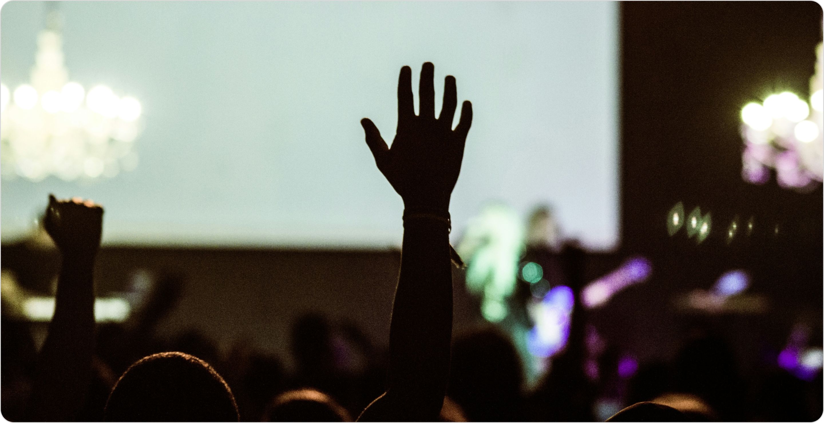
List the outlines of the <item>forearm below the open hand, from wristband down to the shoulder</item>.
<svg viewBox="0 0 824 423">
<path fill-rule="evenodd" d="M 434 421 L 449 375 L 452 268 L 446 221 L 407 219 L 389 334 L 386 394 L 359 421 Z"/>
</svg>

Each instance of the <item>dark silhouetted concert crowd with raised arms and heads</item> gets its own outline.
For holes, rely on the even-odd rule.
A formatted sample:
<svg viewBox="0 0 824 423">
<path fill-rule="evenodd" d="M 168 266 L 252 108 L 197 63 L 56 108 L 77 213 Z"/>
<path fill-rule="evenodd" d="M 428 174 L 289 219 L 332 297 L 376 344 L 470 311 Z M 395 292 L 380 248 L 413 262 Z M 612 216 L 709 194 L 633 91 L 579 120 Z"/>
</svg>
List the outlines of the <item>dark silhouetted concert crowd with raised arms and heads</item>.
<svg viewBox="0 0 824 423">
<path fill-rule="evenodd" d="M 126 323 L 96 324 L 94 263 L 103 208 L 49 198 L 44 229 L 62 255 L 54 317 L 40 351 L 29 323 L 2 314 L 2 415 L 9 421 L 596 421 L 599 398 L 621 390 L 610 421 L 812 421 L 822 415 L 822 375 L 778 368 L 758 383 L 737 373 L 733 352 L 703 328 L 686 334 L 669 363 L 616 382 L 617 358 L 588 372 L 586 253 L 567 244 L 560 272 L 575 293 L 569 339 L 529 389 L 506 332 L 480 326 L 453 337 L 449 203 L 461 170 L 472 106 L 456 127 L 456 80 L 446 77 L 435 116 L 433 64 L 420 74 L 414 114 L 410 67 L 400 70 L 391 148 L 361 122 L 377 169 L 404 201 L 400 274 L 388 351 L 352 324 L 322 314 L 293 323 L 294 369 L 236 343 L 227 353 L 198 332 L 158 337 L 185 276 L 157 280 Z M 471 148 L 471 144 L 469 146 Z M 238 310 L 242 313 L 242 310 Z M 620 385 L 620 386 L 619 386 Z M 619 407 L 620 408 L 620 407 Z"/>
</svg>

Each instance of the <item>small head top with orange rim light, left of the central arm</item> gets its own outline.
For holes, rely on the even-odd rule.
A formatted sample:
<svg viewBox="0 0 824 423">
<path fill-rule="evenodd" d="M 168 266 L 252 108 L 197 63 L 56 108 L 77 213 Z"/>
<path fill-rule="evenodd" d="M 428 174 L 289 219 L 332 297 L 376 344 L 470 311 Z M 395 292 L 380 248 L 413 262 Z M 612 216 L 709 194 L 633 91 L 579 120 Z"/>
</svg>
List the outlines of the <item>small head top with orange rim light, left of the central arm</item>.
<svg viewBox="0 0 824 423">
<path fill-rule="evenodd" d="M 275 397 L 264 421 L 352 421 L 344 407 L 315 389 L 298 389 Z"/>
</svg>

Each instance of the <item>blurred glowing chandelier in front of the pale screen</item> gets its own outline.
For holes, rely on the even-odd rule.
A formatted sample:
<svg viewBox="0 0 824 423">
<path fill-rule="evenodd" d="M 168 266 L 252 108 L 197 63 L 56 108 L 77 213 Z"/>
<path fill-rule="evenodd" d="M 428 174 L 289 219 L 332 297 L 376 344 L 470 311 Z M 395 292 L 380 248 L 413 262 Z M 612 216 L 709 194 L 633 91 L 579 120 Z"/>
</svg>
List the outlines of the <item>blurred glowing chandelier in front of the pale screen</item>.
<svg viewBox="0 0 824 423">
<path fill-rule="evenodd" d="M 9 91 L 0 84 L 0 171 L 40 181 L 49 175 L 74 179 L 111 178 L 133 170 L 133 142 L 142 132 L 140 102 L 107 86 L 88 92 L 68 80 L 63 65 L 60 16 L 54 3 L 37 36 L 30 84 Z"/>
</svg>

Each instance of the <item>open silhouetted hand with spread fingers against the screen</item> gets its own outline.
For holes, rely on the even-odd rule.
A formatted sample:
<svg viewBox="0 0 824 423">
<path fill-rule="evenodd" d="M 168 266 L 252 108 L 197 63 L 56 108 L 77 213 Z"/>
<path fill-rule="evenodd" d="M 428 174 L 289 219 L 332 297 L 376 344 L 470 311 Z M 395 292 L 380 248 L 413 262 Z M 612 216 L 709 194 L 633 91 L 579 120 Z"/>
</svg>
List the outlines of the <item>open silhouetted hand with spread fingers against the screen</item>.
<svg viewBox="0 0 824 423">
<path fill-rule="evenodd" d="M 391 148 L 386 146 L 372 120 L 363 119 L 361 124 L 377 169 L 403 198 L 405 207 L 448 212 L 452 188 L 461 172 L 466 133 L 472 123 L 472 105 L 464 101 L 461 119 L 452 130 L 457 95 L 455 77 L 448 76 L 444 82 L 441 116 L 435 119 L 433 73 L 433 64 L 424 63 L 420 71 L 420 114 L 415 116 L 412 69 L 400 68 L 398 127 Z"/>
</svg>

